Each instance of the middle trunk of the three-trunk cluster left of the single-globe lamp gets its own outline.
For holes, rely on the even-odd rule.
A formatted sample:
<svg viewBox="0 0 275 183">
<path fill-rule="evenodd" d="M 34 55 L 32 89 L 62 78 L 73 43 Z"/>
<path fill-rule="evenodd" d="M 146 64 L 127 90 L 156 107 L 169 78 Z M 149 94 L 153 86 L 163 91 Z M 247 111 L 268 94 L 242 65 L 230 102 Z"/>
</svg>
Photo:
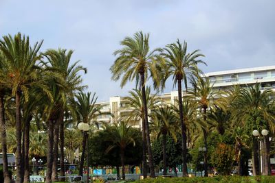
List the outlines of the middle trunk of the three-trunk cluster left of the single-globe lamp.
<svg viewBox="0 0 275 183">
<path fill-rule="evenodd" d="M 54 149 L 52 160 L 52 181 L 58 181 L 57 166 L 58 166 L 58 141 L 59 141 L 59 120 L 54 123 Z"/>
</svg>

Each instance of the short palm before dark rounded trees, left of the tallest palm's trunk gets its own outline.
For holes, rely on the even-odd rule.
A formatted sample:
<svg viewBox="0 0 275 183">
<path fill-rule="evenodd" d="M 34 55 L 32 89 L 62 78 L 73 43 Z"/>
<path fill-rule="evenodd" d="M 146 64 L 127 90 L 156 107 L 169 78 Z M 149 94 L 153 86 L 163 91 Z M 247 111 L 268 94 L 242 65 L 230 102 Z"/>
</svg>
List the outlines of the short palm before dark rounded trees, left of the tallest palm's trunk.
<svg viewBox="0 0 275 183">
<path fill-rule="evenodd" d="M 125 180 L 125 169 L 124 169 L 124 156 L 125 149 L 128 145 L 135 145 L 135 135 L 133 128 L 127 125 L 124 121 L 115 123 L 113 126 L 106 126 L 108 132 L 107 141 L 111 141 L 113 145 L 110 145 L 106 152 L 108 153 L 115 147 L 120 148 L 120 161 L 122 165 L 122 180 Z"/>
</svg>

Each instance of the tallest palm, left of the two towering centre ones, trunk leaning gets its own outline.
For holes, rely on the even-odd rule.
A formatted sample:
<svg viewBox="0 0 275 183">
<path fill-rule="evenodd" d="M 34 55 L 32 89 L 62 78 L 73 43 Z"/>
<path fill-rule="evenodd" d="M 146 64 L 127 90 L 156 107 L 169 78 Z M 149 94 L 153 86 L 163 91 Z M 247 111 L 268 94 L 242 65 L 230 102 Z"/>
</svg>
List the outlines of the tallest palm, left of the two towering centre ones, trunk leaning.
<svg viewBox="0 0 275 183">
<path fill-rule="evenodd" d="M 114 64 L 111 66 L 110 71 L 112 73 L 112 80 L 118 81 L 122 78 L 120 86 L 123 87 L 127 81 L 135 80 L 136 86 L 140 84 L 140 89 L 142 90 L 142 107 L 144 109 L 144 123 L 146 130 L 146 143 L 148 149 L 148 161 L 150 167 L 150 176 L 155 178 L 155 167 L 153 163 L 153 155 L 151 149 L 151 140 L 148 125 L 148 109 L 146 105 L 146 91 L 145 84 L 148 76 L 153 78 L 155 86 L 159 86 L 160 79 L 157 75 L 157 51 L 160 49 L 155 49 L 150 52 L 148 45 L 149 34 L 143 34 L 142 32 L 136 32 L 131 37 L 126 37 L 120 45 L 122 49 L 118 49 L 114 52 L 115 59 Z M 150 75 L 149 75 L 150 74 Z"/>
</svg>

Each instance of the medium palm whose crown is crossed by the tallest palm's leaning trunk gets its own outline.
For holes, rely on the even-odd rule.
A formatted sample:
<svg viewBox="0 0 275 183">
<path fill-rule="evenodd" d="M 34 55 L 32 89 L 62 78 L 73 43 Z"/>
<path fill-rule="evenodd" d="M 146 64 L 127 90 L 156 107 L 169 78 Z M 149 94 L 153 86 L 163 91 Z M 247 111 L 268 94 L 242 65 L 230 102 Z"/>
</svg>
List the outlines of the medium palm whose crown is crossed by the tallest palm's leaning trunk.
<svg viewBox="0 0 275 183">
<path fill-rule="evenodd" d="M 146 105 L 148 110 L 153 110 L 159 99 L 156 95 L 151 95 L 151 88 L 146 87 Z M 142 175 L 144 178 L 147 176 L 146 171 L 146 134 L 144 124 L 144 110 L 142 105 L 142 92 L 137 89 L 129 91 L 129 97 L 124 98 L 125 107 L 124 109 L 129 110 L 127 113 L 122 113 L 121 118 L 125 121 L 140 121 L 142 120 Z M 150 116 L 150 114 L 148 114 Z"/>
</svg>

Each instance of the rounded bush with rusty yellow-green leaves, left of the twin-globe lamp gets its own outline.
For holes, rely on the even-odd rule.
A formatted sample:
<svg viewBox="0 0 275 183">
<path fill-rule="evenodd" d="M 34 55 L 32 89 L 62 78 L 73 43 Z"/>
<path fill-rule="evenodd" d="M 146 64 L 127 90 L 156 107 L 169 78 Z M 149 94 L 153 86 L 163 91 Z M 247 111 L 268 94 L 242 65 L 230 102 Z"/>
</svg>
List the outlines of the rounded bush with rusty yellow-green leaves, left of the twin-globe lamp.
<svg viewBox="0 0 275 183">
<path fill-rule="evenodd" d="M 234 162 L 234 149 L 225 143 L 219 143 L 212 156 L 214 167 L 221 175 L 229 175 Z"/>
</svg>

